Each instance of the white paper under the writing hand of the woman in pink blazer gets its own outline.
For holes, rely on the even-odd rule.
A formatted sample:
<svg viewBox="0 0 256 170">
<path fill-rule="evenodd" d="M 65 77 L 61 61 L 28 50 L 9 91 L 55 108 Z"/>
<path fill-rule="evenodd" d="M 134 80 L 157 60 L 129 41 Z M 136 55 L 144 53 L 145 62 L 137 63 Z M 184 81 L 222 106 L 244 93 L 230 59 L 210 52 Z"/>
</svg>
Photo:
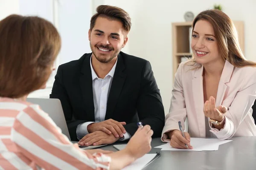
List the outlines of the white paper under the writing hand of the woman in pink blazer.
<svg viewBox="0 0 256 170">
<path fill-rule="evenodd" d="M 161 150 L 179 150 L 179 151 L 218 150 L 219 145 L 230 142 L 230 141 L 232 140 L 191 138 L 190 144 L 193 147 L 193 149 L 177 149 L 177 148 L 171 147 L 169 143 L 157 146 L 155 148 L 162 148 Z"/>
</svg>

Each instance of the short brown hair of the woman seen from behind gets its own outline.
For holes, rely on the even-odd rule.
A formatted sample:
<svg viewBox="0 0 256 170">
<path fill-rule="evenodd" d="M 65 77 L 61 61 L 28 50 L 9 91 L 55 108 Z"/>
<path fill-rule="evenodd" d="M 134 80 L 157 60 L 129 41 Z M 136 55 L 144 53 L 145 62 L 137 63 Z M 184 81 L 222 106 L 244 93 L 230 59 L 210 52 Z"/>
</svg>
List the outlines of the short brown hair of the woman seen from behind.
<svg viewBox="0 0 256 170">
<path fill-rule="evenodd" d="M 56 28 L 40 17 L 0 21 L 0 96 L 19 98 L 47 82 L 61 48 Z"/>
</svg>

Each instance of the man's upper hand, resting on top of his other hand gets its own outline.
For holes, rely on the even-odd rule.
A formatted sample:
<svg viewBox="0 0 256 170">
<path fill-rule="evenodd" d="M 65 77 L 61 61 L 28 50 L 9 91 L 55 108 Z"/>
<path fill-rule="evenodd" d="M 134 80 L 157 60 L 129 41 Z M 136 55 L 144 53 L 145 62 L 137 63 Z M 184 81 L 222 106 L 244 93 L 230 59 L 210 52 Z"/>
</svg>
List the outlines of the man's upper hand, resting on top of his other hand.
<svg viewBox="0 0 256 170">
<path fill-rule="evenodd" d="M 87 126 L 87 130 L 89 133 L 93 133 L 96 131 L 102 131 L 107 134 L 113 134 L 116 138 L 123 137 L 123 133 L 126 133 L 123 125 L 126 125 L 125 122 L 117 122 L 113 119 L 108 119 L 99 123 L 92 123 Z"/>
</svg>

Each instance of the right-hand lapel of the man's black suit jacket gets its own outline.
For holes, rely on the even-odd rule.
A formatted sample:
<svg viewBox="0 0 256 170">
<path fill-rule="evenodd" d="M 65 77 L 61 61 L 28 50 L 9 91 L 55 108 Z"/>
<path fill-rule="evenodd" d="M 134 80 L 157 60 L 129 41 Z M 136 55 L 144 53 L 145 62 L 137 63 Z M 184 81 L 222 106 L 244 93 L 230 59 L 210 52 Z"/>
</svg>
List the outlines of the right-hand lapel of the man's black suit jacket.
<svg viewBox="0 0 256 170">
<path fill-rule="evenodd" d="M 116 70 L 115 70 L 111 88 L 109 91 L 105 120 L 113 118 L 114 108 L 116 106 L 116 102 L 118 101 L 119 95 L 122 91 L 125 78 L 126 78 L 125 65 L 124 65 L 122 55 L 119 54 L 117 63 L 116 63 Z"/>
</svg>

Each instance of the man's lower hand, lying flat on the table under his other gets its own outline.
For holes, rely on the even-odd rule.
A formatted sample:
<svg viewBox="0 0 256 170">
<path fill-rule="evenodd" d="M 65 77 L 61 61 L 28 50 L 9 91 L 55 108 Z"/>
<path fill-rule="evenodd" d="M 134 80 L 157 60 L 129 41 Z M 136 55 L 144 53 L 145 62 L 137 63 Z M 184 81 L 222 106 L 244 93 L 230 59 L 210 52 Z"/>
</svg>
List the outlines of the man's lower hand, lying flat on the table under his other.
<svg viewBox="0 0 256 170">
<path fill-rule="evenodd" d="M 108 135 L 102 131 L 96 131 L 85 135 L 79 142 L 81 146 L 89 146 L 89 145 L 100 145 L 100 144 L 112 144 L 116 142 L 119 138 L 116 138 L 113 134 Z"/>
</svg>

